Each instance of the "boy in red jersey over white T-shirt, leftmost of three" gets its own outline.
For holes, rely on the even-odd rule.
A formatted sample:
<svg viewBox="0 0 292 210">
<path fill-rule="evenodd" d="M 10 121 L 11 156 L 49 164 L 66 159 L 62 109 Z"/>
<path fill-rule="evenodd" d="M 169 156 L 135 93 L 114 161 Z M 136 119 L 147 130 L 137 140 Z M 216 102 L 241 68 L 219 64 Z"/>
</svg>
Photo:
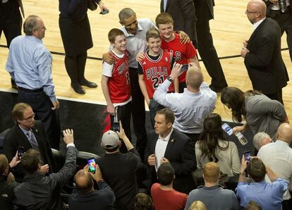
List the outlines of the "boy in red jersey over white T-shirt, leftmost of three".
<svg viewBox="0 0 292 210">
<path fill-rule="evenodd" d="M 111 115 L 111 130 L 114 121 L 121 121 L 126 136 L 130 139 L 130 79 L 129 79 L 129 54 L 126 50 L 126 37 L 117 29 L 109 31 L 109 42 L 113 49 L 112 56 L 116 63 L 102 63 L 102 92 L 107 101 L 107 112 Z M 122 152 L 127 152 L 122 147 Z"/>
</svg>

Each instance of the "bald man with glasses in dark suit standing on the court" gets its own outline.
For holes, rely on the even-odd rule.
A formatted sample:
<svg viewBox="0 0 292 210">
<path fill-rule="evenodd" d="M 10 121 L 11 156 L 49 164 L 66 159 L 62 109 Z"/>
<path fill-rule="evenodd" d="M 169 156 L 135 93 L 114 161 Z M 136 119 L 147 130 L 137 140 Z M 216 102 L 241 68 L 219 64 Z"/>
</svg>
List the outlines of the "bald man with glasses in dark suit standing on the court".
<svg viewBox="0 0 292 210">
<path fill-rule="evenodd" d="M 241 56 L 253 83 L 253 89 L 283 104 L 282 88 L 287 85 L 288 73 L 281 56 L 281 29 L 272 18 L 266 18 L 264 1 L 248 2 L 245 11 L 254 32 L 243 42 Z"/>
</svg>

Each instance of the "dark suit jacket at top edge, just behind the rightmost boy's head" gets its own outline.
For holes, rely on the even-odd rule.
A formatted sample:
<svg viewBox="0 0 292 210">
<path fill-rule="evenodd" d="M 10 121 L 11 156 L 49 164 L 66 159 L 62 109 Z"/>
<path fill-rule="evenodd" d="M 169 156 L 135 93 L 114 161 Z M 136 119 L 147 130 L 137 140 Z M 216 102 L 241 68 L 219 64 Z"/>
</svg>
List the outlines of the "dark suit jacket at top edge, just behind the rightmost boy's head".
<svg viewBox="0 0 292 210">
<path fill-rule="evenodd" d="M 160 3 L 160 11 L 164 12 L 164 1 Z M 193 0 L 168 0 L 166 13 L 174 19 L 174 30 L 181 30 L 188 34 L 190 40 L 196 40 L 195 33 L 195 7 Z"/>
</svg>

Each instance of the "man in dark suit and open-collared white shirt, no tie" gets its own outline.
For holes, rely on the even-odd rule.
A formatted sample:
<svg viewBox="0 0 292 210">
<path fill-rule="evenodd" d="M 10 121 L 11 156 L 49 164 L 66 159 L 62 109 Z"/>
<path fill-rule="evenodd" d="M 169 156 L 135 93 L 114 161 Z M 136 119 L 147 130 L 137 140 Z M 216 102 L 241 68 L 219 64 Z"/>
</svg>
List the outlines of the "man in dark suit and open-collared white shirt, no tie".
<svg viewBox="0 0 292 210">
<path fill-rule="evenodd" d="M 152 183 L 157 183 L 157 168 L 170 162 L 176 178 L 174 189 L 187 193 L 193 190 L 192 172 L 195 171 L 195 146 L 190 138 L 172 128 L 174 113 L 170 109 L 160 109 L 155 116 L 155 130 L 148 133 L 145 160 L 150 166 Z"/>
</svg>

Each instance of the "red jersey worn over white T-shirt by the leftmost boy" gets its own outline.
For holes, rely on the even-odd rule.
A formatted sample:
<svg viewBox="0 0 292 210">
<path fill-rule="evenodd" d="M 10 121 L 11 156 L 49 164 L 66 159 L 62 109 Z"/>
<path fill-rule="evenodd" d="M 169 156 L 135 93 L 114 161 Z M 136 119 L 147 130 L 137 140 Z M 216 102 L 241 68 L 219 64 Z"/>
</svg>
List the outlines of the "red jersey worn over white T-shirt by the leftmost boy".
<svg viewBox="0 0 292 210">
<path fill-rule="evenodd" d="M 125 51 L 123 58 L 112 55 L 116 58 L 116 63 L 107 85 L 111 102 L 117 104 L 130 99 L 129 54 L 128 51 Z"/>
</svg>

